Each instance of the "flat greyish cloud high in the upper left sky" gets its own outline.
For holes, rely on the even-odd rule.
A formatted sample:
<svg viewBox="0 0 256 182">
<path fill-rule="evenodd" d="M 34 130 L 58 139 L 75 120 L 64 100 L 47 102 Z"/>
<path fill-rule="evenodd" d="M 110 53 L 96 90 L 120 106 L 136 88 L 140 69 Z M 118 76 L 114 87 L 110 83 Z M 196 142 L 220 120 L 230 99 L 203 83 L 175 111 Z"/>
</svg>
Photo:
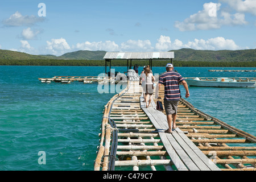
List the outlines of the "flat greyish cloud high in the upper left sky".
<svg viewBox="0 0 256 182">
<path fill-rule="evenodd" d="M 5 26 L 18 27 L 18 26 L 32 26 L 37 22 L 43 22 L 43 21 L 44 21 L 43 17 L 38 17 L 34 15 L 23 16 L 22 14 L 19 13 L 19 11 L 16 11 L 16 13 L 11 15 L 9 18 L 2 20 L 2 23 Z"/>
</svg>

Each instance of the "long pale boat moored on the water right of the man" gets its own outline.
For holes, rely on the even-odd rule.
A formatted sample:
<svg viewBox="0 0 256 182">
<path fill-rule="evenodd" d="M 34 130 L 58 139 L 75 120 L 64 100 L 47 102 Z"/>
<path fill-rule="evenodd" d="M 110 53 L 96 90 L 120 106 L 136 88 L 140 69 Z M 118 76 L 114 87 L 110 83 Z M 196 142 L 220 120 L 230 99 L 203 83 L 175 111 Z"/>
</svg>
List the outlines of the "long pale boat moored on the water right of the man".
<svg viewBox="0 0 256 182">
<path fill-rule="evenodd" d="M 200 78 L 186 79 L 189 86 L 204 86 L 204 87 L 243 87 L 255 88 L 256 82 L 253 81 L 236 81 L 230 78 L 217 78 L 214 81 L 200 80 Z"/>
</svg>

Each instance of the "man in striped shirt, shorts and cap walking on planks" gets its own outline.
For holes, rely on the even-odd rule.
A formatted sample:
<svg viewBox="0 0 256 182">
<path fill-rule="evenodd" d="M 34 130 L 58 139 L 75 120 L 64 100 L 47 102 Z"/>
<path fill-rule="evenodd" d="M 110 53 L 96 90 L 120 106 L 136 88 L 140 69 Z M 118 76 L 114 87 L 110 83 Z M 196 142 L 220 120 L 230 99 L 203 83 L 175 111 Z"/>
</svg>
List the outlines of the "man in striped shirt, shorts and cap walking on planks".
<svg viewBox="0 0 256 182">
<path fill-rule="evenodd" d="M 168 129 L 166 133 L 172 133 L 176 129 L 177 105 L 180 100 L 179 83 L 183 84 L 186 94 L 189 97 L 188 84 L 180 73 L 174 72 L 174 66 L 171 63 L 166 65 L 166 73 L 159 77 L 159 86 L 164 85 L 164 109 L 166 110 Z M 173 121 L 173 122 L 172 122 Z"/>
</svg>

